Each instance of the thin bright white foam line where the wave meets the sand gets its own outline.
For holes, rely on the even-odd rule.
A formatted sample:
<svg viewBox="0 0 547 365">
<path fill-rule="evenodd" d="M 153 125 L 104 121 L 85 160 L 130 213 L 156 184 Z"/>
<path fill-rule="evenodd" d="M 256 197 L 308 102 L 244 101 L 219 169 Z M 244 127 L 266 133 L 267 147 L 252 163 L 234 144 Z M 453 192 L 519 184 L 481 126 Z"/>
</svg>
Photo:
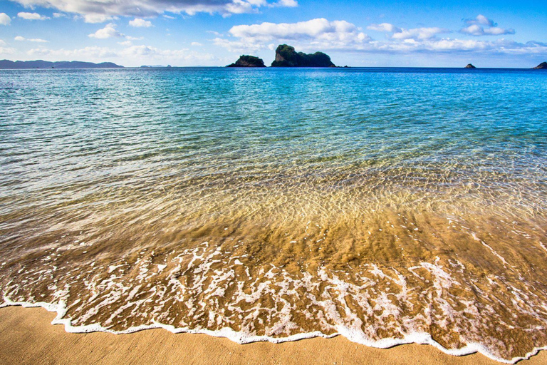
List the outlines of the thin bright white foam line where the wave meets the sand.
<svg viewBox="0 0 547 365">
<path fill-rule="evenodd" d="M 124 331 L 113 331 L 112 329 L 102 327 L 99 324 L 73 326 L 71 318 L 63 318 L 64 315 L 66 314 L 66 306 L 63 302 L 59 302 L 58 304 L 46 303 L 46 302 L 36 302 L 36 303 L 12 302 L 9 298 L 6 298 L 5 296 L 3 297 L 4 297 L 4 303 L 0 304 L 0 308 L 41 307 L 43 309 L 46 309 L 48 312 L 56 312 L 57 316 L 53 319 L 53 321 L 51 321 L 51 324 L 53 325 L 63 324 L 65 327 L 65 331 L 68 333 L 73 333 L 73 334 L 78 334 L 78 333 L 83 334 L 83 333 L 90 333 L 90 332 L 106 332 L 110 334 L 132 334 L 138 331 L 144 331 L 146 329 L 165 329 L 167 331 L 170 331 L 173 334 L 179 334 L 179 333 L 207 334 L 209 336 L 214 336 L 214 337 L 224 337 L 226 339 L 229 339 L 230 341 L 236 342 L 237 344 L 250 344 L 252 342 L 259 342 L 259 341 L 269 341 L 273 344 L 281 344 L 283 342 L 299 341 L 301 339 L 311 339 L 314 337 L 323 337 L 324 339 L 331 339 L 335 336 L 343 336 L 345 337 L 345 339 L 355 342 L 356 344 L 361 344 L 368 347 L 374 347 L 376 349 L 390 349 L 392 347 L 404 345 L 404 344 L 422 344 L 422 345 L 427 344 L 427 345 L 434 346 L 435 348 L 439 349 L 445 354 L 449 354 L 452 356 L 466 356 L 470 354 L 479 353 L 481 355 L 486 356 L 489 359 L 501 362 L 503 364 L 516 364 L 519 361 L 530 359 L 532 356 L 537 355 L 539 351 L 547 350 L 547 346 L 535 347 L 532 351 L 528 352 L 526 355 L 522 357 L 514 357 L 511 360 L 506 360 L 506 359 L 501 359 L 499 357 L 494 356 L 494 354 L 491 354 L 491 352 L 489 352 L 485 346 L 479 343 L 469 343 L 467 344 L 467 346 L 462 347 L 461 349 L 447 349 L 441 344 L 439 344 L 437 341 L 432 339 L 431 334 L 428 334 L 427 332 L 416 332 L 413 334 L 409 334 L 402 339 L 390 338 L 390 339 L 380 339 L 379 341 L 370 341 L 369 339 L 365 339 L 363 336 L 353 333 L 353 331 L 343 326 L 339 326 L 338 332 L 335 334 L 327 335 L 327 334 L 321 333 L 321 331 L 314 331 L 311 333 L 296 334 L 296 335 L 287 336 L 283 338 L 276 338 L 271 336 L 249 336 L 248 334 L 242 334 L 241 332 L 236 332 L 233 329 L 230 329 L 228 327 L 224 327 L 223 329 L 220 329 L 219 331 L 211 331 L 209 329 L 189 329 L 185 327 L 177 328 L 168 324 L 162 324 L 160 322 L 154 322 L 154 324 L 141 325 L 137 327 L 130 327 L 128 329 L 125 329 Z"/>
</svg>

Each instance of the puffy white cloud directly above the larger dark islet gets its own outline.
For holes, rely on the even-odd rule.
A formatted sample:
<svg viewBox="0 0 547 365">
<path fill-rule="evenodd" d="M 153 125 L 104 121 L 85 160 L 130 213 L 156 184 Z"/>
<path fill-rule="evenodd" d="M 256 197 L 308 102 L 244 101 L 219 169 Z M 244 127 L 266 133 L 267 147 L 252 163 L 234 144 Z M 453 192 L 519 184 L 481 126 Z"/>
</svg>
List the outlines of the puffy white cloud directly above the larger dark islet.
<svg viewBox="0 0 547 365">
<path fill-rule="evenodd" d="M 262 23 L 233 26 L 229 34 L 237 38 L 215 38 L 214 43 L 229 51 L 271 48 L 270 43 L 288 43 L 301 49 L 352 48 L 370 38 L 348 21 L 312 19 L 298 23 Z"/>
</svg>

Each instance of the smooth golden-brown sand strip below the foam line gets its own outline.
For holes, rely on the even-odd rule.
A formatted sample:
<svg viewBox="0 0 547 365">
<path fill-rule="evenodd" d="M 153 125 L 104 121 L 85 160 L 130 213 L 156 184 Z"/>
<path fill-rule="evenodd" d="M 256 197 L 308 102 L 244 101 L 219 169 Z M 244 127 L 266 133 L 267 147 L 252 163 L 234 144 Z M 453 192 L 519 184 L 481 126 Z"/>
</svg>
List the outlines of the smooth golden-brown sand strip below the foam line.
<svg viewBox="0 0 547 365">
<path fill-rule="evenodd" d="M 373 349 L 342 336 L 239 345 L 163 329 L 69 334 L 51 325 L 55 315 L 41 308 L 0 309 L 0 364 L 500 364 L 480 354 L 449 356 L 427 345 Z M 521 364 L 547 364 L 547 351 Z"/>
</svg>

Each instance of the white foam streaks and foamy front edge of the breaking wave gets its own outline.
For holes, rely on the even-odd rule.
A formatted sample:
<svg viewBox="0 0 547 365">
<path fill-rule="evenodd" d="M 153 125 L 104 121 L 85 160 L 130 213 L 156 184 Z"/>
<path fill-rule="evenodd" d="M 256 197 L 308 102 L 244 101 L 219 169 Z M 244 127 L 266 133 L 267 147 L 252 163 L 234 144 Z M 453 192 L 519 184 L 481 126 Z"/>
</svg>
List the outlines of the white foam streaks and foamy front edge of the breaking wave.
<svg viewBox="0 0 547 365">
<path fill-rule="evenodd" d="M 203 247 L 204 245 L 206 246 L 205 248 Z M 469 333 L 477 333 L 476 328 L 472 328 L 475 325 L 474 322 L 471 324 L 464 323 L 464 326 L 467 327 L 462 327 L 462 324 L 459 324 L 459 327 L 454 329 L 454 331 L 457 331 L 462 335 L 461 341 L 464 343 L 467 342 L 467 346 L 463 349 L 446 349 L 434 341 L 432 336 L 427 332 L 422 331 L 422 329 L 427 329 L 427 324 L 431 324 L 434 320 L 437 321 L 436 323 L 442 325 L 446 323 L 447 320 L 458 319 L 462 314 L 455 312 L 453 303 L 450 304 L 450 302 L 448 302 L 449 300 L 454 300 L 454 298 L 451 299 L 449 297 L 448 289 L 452 286 L 462 287 L 462 283 L 458 282 L 451 273 L 456 275 L 457 272 L 455 269 L 459 267 L 461 272 L 463 272 L 465 267 L 463 265 L 457 266 L 450 261 L 447 262 L 447 267 L 442 267 L 442 265 L 439 264 L 440 259 L 438 257 L 434 262 L 422 262 L 415 267 L 408 268 L 415 277 L 422 280 L 422 282 L 427 283 L 426 287 L 424 287 L 424 292 L 427 292 L 427 295 L 431 294 L 433 296 L 431 300 L 438 304 L 438 308 L 442 311 L 442 313 L 439 312 L 442 317 L 432 319 L 433 314 L 429 307 L 424 307 L 423 312 L 420 312 L 415 316 L 404 317 L 404 312 L 402 312 L 402 309 L 397 302 L 405 302 L 412 307 L 412 303 L 415 303 L 415 301 L 410 300 L 412 298 L 409 296 L 415 295 L 417 287 L 413 285 L 408 288 L 405 276 L 393 268 L 378 267 L 376 264 L 364 264 L 363 267 L 366 267 L 365 274 L 363 274 L 363 271 L 359 271 L 360 269 L 358 268 L 352 268 L 350 270 L 350 276 L 355 279 L 350 282 L 346 280 L 350 273 L 343 270 L 333 272 L 327 271 L 324 267 L 320 267 L 318 272 L 314 272 L 313 275 L 308 272 L 302 272 L 301 276 L 291 277 L 291 275 L 283 271 L 281 267 L 274 267 L 271 265 L 266 270 L 264 267 L 261 267 L 259 269 L 259 275 L 261 277 L 253 278 L 249 274 L 248 267 L 245 267 L 238 257 L 231 257 L 234 264 L 243 265 L 245 267 L 247 277 L 252 279 L 250 282 L 241 282 L 236 279 L 236 270 L 234 270 L 234 267 L 227 267 L 223 264 L 222 260 L 218 259 L 219 255 L 222 253 L 220 248 L 211 247 L 208 251 L 208 247 L 208 242 L 204 242 L 195 249 L 185 250 L 182 255 L 174 257 L 173 261 L 169 263 L 170 271 L 162 275 L 157 275 L 157 273 L 162 272 L 167 266 L 164 264 L 152 264 L 150 258 L 141 257 L 138 259 L 137 263 L 133 265 L 133 270 L 138 272 L 135 282 L 132 282 L 128 286 L 125 286 L 124 284 L 126 283 L 121 281 L 123 279 L 123 270 L 120 270 L 120 272 L 116 270 L 118 267 L 123 267 L 127 264 L 103 267 L 103 272 L 111 274 L 110 277 L 105 278 L 98 276 L 100 281 L 93 278 L 85 282 L 85 286 L 91 294 L 91 297 L 86 298 L 85 302 L 93 302 L 93 307 L 85 308 L 84 306 L 81 306 L 81 308 L 85 309 L 85 312 L 79 312 L 77 316 L 74 314 L 74 321 L 77 321 L 77 323 L 89 323 L 90 319 L 94 316 L 97 314 L 105 314 L 103 311 L 106 311 L 106 314 L 110 315 L 110 317 L 108 319 L 103 319 L 100 322 L 102 325 L 85 324 L 73 326 L 73 320 L 71 318 L 64 318 L 67 310 L 66 302 L 64 302 L 63 299 L 68 297 L 68 287 L 65 287 L 63 291 L 58 290 L 58 292 L 54 294 L 52 302 L 58 304 L 38 301 L 34 303 L 35 299 L 33 297 L 16 297 L 28 302 L 12 302 L 8 298 L 11 294 L 4 293 L 4 304 L 1 304 L 0 307 L 6 307 L 8 305 L 44 307 L 48 311 L 57 312 L 56 319 L 54 319 L 52 323 L 64 324 L 65 329 L 68 332 L 105 331 L 113 334 L 125 334 L 140 331 L 142 329 L 164 328 L 174 333 L 202 333 L 211 336 L 227 337 L 240 344 L 254 341 L 278 343 L 316 336 L 332 337 L 341 335 L 345 336 L 350 341 L 377 348 L 389 348 L 399 344 L 417 343 L 431 344 L 447 354 L 457 356 L 480 352 L 490 359 L 508 364 L 513 364 L 521 359 L 527 359 L 533 354 L 536 354 L 537 351 L 546 349 L 545 347 L 540 347 L 523 357 L 501 359 L 492 352 L 500 348 L 499 344 L 493 342 L 495 339 L 483 339 L 481 336 L 467 336 L 466 339 L 465 331 L 467 329 L 469 329 Z M 246 255 L 239 257 L 246 257 Z M 457 260 L 456 262 L 459 263 Z M 172 267 L 172 265 L 174 265 L 174 267 Z M 156 267 L 157 270 L 155 269 Z M 219 269 L 219 267 L 222 268 Z M 363 269 L 363 267 L 361 267 L 361 269 Z M 453 270 L 447 272 L 446 269 L 449 267 L 453 267 Z M 101 272 L 100 269 L 100 267 L 97 269 L 98 272 Z M 184 277 L 187 274 L 192 278 L 191 281 L 186 282 L 186 284 L 184 284 L 185 282 L 179 282 L 177 277 Z M 415 279 L 412 274 L 410 276 L 412 279 Z M 165 275 L 167 275 L 167 277 L 165 277 Z M 373 279 L 370 278 L 370 275 L 373 275 Z M 153 283 L 152 278 L 156 277 L 160 277 L 162 280 L 165 279 L 167 284 L 152 285 L 150 288 L 150 285 Z M 489 282 L 494 282 L 491 278 L 487 279 Z M 386 291 L 380 289 L 381 287 L 378 285 L 384 283 L 386 284 Z M 320 290 L 319 287 L 321 284 L 325 284 L 325 287 Z M 225 304 L 226 309 L 232 313 L 230 315 L 234 316 L 233 318 L 229 318 L 229 316 L 225 315 L 223 312 L 224 308 L 219 307 L 218 305 L 215 306 L 212 304 L 210 307 L 207 307 L 208 304 L 203 300 L 194 299 L 205 297 L 209 299 L 209 302 L 212 303 L 216 301 L 216 304 L 218 304 L 217 298 L 224 297 L 226 288 L 229 287 L 229 285 L 236 286 L 236 288 L 232 287 L 236 289 L 235 293 L 231 294 L 233 297 Z M 394 286 L 396 287 L 395 292 L 390 289 Z M 54 288 L 51 287 L 51 289 L 53 290 Z M 479 288 L 475 287 L 475 289 L 477 292 L 480 292 Z M 170 290 L 168 299 L 178 301 L 188 308 L 185 317 L 190 319 L 190 321 L 192 321 L 192 318 L 199 318 L 199 316 L 205 314 L 209 317 L 207 327 L 222 326 L 222 328 L 217 330 L 194 328 L 190 327 L 188 322 L 182 322 L 182 320 L 176 323 L 179 327 L 162 323 L 168 322 L 169 317 L 165 315 L 165 312 L 157 312 L 157 309 L 161 309 L 161 306 L 165 304 L 163 298 L 165 298 L 164 294 L 167 290 Z M 146 301 L 150 300 L 149 298 L 152 298 L 147 296 L 142 299 L 142 297 L 137 296 L 137 294 L 144 292 L 158 294 L 157 298 L 161 299 L 157 303 L 158 307 L 152 309 L 150 307 L 144 307 Z M 301 309 L 301 313 L 317 324 L 317 327 L 313 327 L 313 329 L 318 329 L 317 331 L 304 332 L 304 329 L 300 329 L 300 327 L 291 320 L 292 314 L 299 309 L 296 308 L 294 302 L 287 300 L 286 298 L 298 298 L 298 295 L 301 292 L 306 293 L 306 297 L 303 297 L 303 299 L 306 299 L 308 306 L 306 309 Z M 526 308 L 521 307 L 523 304 L 526 304 L 526 297 L 523 297 L 522 291 L 514 288 L 512 294 L 515 299 L 513 305 L 518 311 L 526 312 L 525 309 L 529 310 L 529 306 Z M 272 297 L 276 302 L 276 305 L 272 307 L 261 307 L 260 302 L 257 301 L 259 301 L 261 297 L 266 296 Z M 365 315 L 365 318 L 368 317 L 373 319 L 373 323 L 367 324 L 366 326 L 363 324 L 363 322 L 368 322 L 366 319 L 362 320 L 362 317 L 351 310 L 348 302 L 346 302 L 346 298 L 348 297 L 358 304 L 360 310 L 363 311 L 362 314 Z M 395 297 L 396 300 L 393 299 L 393 297 Z M 457 300 L 459 304 L 464 305 L 464 309 L 459 309 L 459 312 L 472 314 L 472 317 L 479 321 L 481 320 L 479 312 L 476 312 L 476 305 L 474 302 L 466 300 L 464 297 L 458 298 Z M 117 301 L 120 302 L 120 304 L 115 304 Z M 251 309 L 243 310 L 241 309 L 241 306 L 238 305 L 240 302 L 249 304 L 256 302 L 257 304 L 253 304 Z M 78 302 L 73 302 L 70 304 L 71 313 L 75 313 L 73 312 L 73 309 L 75 309 L 75 304 L 77 303 Z M 113 308 L 110 309 L 109 307 Z M 143 307 L 145 309 L 144 312 L 142 311 Z M 311 307 L 319 307 L 321 309 L 318 312 L 313 312 L 312 310 L 308 310 Z M 127 309 L 131 309 L 130 314 L 123 319 L 136 318 L 139 316 L 142 316 L 142 318 L 148 317 L 149 319 L 145 322 L 148 324 L 126 328 L 128 324 L 123 327 L 124 323 L 117 321 L 116 323 L 118 323 L 118 325 L 122 326 L 122 328 L 126 328 L 123 331 L 113 331 L 108 327 L 104 327 L 112 324 L 114 319 Z M 262 311 L 263 313 L 265 311 L 268 314 L 268 318 L 275 317 L 276 321 L 273 324 L 264 324 L 261 322 L 261 317 L 259 317 L 259 311 Z M 489 313 L 488 311 L 491 313 L 491 308 L 484 307 L 482 308 L 481 313 Z M 380 314 L 378 314 L 378 312 L 380 312 Z M 534 314 L 533 312 L 529 313 L 531 315 Z M 150 316 L 145 316 L 145 314 L 150 314 Z M 234 322 L 232 319 L 236 319 L 236 321 Z M 237 319 L 239 319 L 239 321 Z M 254 327 L 252 327 L 254 321 L 264 324 L 264 335 L 256 335 Z M 234 327 L 233 324 L 236 322 L 241 324 L 241 327 L 238 327 L 240 328 L 239 331 L 234 331 L 229 328 Z M 392 324 L 395 324 L 396 327 L 392 326 Z M 424 327 L 420 324 L 426 324 L 426 326 Z M 480 323 L 476 325 L 480 326 Z M 378 339 L 376 335 L 377 329 L 386 329 L 390 331 L 392 336 L 397 338 Z M 303 333 L 294 334 L 298 331 L 302 331 Z M 477 339 L 482 342 L 482 344 L 476 342 Z M 493 346 L 493 344 L 495 346 Z"/>
</svg>

